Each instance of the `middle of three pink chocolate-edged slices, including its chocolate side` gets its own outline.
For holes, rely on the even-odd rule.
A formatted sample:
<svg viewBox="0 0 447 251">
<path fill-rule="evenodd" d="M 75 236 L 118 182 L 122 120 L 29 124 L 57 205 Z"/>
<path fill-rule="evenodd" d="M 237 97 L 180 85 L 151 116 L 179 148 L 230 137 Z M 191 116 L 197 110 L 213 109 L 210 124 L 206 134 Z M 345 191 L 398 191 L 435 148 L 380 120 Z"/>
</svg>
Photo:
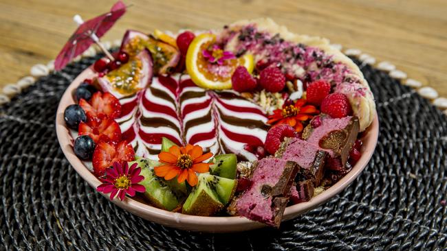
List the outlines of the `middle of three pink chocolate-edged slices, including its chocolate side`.
<svg viewBox="0 0 447 251">
<path fill-rule="evenodd" d="M 276 156 L 299 165 L 298 180 L 312 180 L 315 187 L 318 187 L 325 172 L 327 152 L 301 139 L 286 139 L 281 147 Z"/>
</svg>

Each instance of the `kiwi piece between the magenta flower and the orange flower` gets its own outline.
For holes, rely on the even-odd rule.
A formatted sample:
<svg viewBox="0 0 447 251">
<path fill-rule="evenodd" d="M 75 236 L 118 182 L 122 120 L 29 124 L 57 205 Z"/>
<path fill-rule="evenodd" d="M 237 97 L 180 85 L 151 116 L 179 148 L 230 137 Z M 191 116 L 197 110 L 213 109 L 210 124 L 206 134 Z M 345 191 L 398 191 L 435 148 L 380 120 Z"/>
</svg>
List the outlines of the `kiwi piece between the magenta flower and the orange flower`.
<svg viewBox="0 0 447 251">
<path fill-rule="evenodd" d="M 162 208 L 167 211 L 173 211 L 184 201 L 186 197 L 185 182 L 178 183 L 177 180 L 164 180 L 155 176 L 153 167 L 160 165 L 158 161 L 150 160 L 148 158 L 140 158 L 129 163 L 129 166 L 137 163 L 141 167 L 141 174 L 144 180 L 140 182 L 146 191 L 144 196 L 157 208 Z"/>
</svg>

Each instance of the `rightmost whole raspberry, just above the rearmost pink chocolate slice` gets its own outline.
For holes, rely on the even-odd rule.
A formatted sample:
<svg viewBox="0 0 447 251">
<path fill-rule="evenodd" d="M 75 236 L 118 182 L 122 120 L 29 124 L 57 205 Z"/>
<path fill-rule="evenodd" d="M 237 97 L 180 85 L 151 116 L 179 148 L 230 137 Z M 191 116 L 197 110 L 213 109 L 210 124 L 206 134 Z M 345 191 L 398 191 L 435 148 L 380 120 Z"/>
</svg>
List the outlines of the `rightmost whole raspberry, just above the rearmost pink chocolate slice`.
<svg viewBox="0 0 447 251">
<path fill-rule="evenodd" d="M 343 93 L 331 93 L 321 102 L 321 112 L 333 117 L 342 118 L 352 112 L 351 104 Z"/>
</svg>

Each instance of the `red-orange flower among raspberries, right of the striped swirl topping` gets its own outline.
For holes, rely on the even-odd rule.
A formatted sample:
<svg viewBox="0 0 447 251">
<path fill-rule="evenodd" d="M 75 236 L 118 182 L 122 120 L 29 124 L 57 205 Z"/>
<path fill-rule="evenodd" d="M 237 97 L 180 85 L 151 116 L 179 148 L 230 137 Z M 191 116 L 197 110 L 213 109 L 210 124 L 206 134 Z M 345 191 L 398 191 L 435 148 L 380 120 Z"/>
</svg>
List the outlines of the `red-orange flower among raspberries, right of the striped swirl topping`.
<svg viewBox="0 0 447 251">
<path fill-rule="evenodd" d="M 314 115 L 320 113 L 315 106 L 307 105 L 305 99 L 298 99 L 295 104 L 283 105 L 282 109 L 276 109 L 268 117 L 267 123 L 270 125 L 286 124 L 295 128 L 296 132 L 303 131 L 302 121 L 312 119 Z"/>
</svg>

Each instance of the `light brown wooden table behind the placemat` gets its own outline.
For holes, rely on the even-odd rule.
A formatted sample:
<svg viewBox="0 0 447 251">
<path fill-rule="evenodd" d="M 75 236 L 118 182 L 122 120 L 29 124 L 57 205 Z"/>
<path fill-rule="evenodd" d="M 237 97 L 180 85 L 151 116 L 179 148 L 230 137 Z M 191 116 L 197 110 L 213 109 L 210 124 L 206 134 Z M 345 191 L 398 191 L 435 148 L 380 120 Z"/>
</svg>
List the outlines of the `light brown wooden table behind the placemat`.
<svg viewBox="0 0 447 251">
<path fill-rule="evenodd" d="M 30 67 L 55 58 L 85 19 L 109 10 L 106 0 L 2 0 L 0 2 L 0 86 L 29 75 Z M 292 32 L 325 36 L 344 48 L 358 48 L 392 62 L 447 96 L 447 1 L 125 1 L 129 8 L 103 40 L 125 29 L 209 29 L 239 19 L 270 16 Z"/>
</svg>

